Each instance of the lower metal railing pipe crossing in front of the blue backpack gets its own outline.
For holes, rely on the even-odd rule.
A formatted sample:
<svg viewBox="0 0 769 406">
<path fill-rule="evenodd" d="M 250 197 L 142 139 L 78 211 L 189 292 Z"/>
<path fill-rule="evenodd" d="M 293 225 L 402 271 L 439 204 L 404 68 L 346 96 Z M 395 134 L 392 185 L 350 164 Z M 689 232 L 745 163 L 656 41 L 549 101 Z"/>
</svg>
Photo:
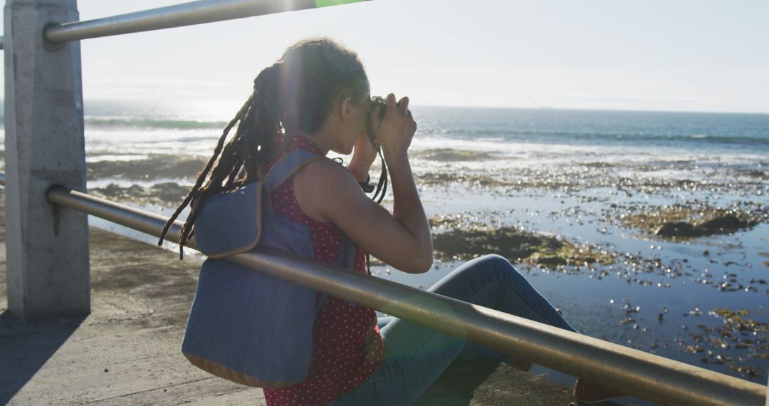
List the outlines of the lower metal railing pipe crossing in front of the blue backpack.
<svg viewBox="0 0 769 406">
<path fill-rule="evenodd" d="M 48 198 L 155 236 L 165 224 L 160 215 L 59 186 Z M 169 240 L 178 238 L 180 225 Z M 228 260 L 661 404 L 763 405 L 767 393 L 761 384 L 277 250 L 258 248 Z"/>
</svg>

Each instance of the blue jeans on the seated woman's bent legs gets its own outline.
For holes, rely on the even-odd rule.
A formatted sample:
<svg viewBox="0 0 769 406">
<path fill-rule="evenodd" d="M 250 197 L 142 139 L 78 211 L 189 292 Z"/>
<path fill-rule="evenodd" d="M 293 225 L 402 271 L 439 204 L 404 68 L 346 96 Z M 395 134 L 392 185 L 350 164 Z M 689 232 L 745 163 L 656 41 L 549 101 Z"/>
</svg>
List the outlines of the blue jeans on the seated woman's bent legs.
<svg viewBox="0 0 769 406">
<path fill-rule="evenodd" d="M 455 269 L 429 291 L 575 331 L 508 260 L 476 258 Z M 398 318 L 379 321 L 385 361 L 368 381 L 330 404 L 412 404 L 455 360 L 511 357 Z"/>
</svg>

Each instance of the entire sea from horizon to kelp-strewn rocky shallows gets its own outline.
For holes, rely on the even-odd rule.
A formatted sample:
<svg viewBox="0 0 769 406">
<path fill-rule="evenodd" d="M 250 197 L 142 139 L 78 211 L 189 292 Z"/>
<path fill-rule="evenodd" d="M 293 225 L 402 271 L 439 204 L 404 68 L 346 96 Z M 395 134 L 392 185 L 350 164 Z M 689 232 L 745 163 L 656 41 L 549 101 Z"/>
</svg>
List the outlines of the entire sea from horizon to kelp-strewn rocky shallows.
<svg viewBox="0 0 769 406">
<path fill-rule="evenodd" d="M 88 188 L 169 215 L 238 107 L 87 101 Z M 766 383 L 769 115 L 412 110 L 436 261 L 423 275 L 375 263 L 375 275 L 428 288 L 501 251 L 584 334 Z M 679 221 L 691 235 L 665 235 Z"/>
</svg>

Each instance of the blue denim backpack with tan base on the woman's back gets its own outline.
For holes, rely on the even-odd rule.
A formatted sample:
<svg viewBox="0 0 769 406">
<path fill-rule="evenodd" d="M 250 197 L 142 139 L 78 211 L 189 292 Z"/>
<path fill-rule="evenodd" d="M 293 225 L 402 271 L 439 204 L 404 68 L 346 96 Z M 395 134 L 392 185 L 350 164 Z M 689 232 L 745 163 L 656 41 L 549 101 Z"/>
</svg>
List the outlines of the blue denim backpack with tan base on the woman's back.
<svg viewBox="0 0 769 406">
<path fill-rule="evenodd" d="M 315 312 L 326 295 L 245 268 L 224 257 L 260 247 L 315 258 L 307 226 L 275 215 L 269 191 L 299 168 L 325 159 L 292 151 L 264 182 L 213 195 L 195 220 L 203 263 L 181 351 L 198 368 L 259 388 L 303 381 L 312 355 Z M 353 267 L 355 245 L 344 238 L 337 265 Z"/>
</svg>

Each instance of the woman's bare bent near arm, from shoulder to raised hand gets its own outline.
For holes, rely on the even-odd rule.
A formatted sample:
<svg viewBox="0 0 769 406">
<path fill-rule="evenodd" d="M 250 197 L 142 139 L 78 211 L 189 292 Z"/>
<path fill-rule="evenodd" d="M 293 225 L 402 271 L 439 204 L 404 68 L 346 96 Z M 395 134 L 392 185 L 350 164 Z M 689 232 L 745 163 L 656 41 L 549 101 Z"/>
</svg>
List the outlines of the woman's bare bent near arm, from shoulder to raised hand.
<svg viewBox="0 0 769 406">
<path fill-rule="evenodd" d="M 388 96 L 384 120 L 375 133 L 390 170 L 394 213 L 366 196 L 358 182 L 331 161 L 315 161 L 294 178 L 296 198 L 313 218 L 331 221 L 361 248 L 401 271 L 421 273 L 432 265 L 430 226 L 424 215 L 411 165 L 408 146 L 416 123 L 407 111 L 408 98 L 395 106 Z"/>
</svg>

